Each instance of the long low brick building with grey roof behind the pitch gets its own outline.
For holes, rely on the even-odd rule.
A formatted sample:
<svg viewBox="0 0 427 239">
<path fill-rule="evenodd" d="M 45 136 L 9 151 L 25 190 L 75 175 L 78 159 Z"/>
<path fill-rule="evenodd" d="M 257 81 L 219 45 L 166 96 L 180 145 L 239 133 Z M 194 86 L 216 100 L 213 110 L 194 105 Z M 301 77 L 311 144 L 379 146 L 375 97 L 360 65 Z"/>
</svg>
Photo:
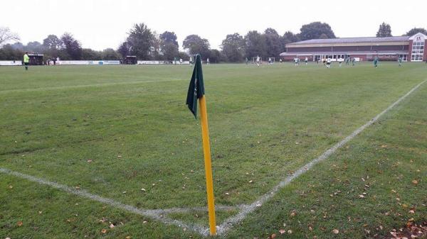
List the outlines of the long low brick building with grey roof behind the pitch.
<svg viewBox="0 0 427 239">
<path fill-rule="evenodd" d="M 282 60 L 290 61 L 295 57 L 309 61 L 339 57 L 354 57 L 356 60 L 369 61 L 378 56 L 379 60 L 397 60 L 419 62 L 427 60 L 427 35 L 417 33 L 409 36 L 386 38 L 332 38 L 303 40 L 286 45 L 286 52 L 280 54 Z"/>
</svg>

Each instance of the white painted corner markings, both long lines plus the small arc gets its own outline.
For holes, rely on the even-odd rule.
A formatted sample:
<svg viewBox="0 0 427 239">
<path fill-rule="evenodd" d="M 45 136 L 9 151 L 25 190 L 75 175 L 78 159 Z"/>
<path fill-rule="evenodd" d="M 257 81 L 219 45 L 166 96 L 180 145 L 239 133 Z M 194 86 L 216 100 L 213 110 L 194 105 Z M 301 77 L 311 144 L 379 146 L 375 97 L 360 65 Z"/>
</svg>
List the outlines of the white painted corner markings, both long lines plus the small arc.
<svg viewBox="0 0 427 239">
<path fill-rule="evenodd" d="M 354 137 L 359 135 L 359 133 L 361 133 L 365 128 L 371 126 L 373 123 L 378 121 L 378 119 L 381 116 L 383 116 L 384 113 L 387 113 L 389 110 L 394 108 L 394 106 L 396 106 L 401 101 L 406 99 L 407 96 L 412 94 L 412 92 L 415 91 L 416 89 L 418 89 L 418 87 L 420 87 L 421 84 L 423 84 L 424 82 L 427 82 L 427 79 L 424 80 L 423 82 L 421 82 L 420 84 L 416 85 L 416 87 L 413 87 L 410 91 L 408 91 L 408 93 L 406 93 L 404 96 L 401 96 L 401 98 L 399 98 L 397 101 L 395 101 L 389 107 L 387 107 L 387 109 L 385 109 L 381 113 L 377 114 L 374 118 L 372 118 L 371 121 L 365 123 L 363 126 L 360 126 L 359 128 L 357 128 L 357 130 L 354 130 L 353 133 L 348 135 L 346 138 L 341 140 L 339 143 L 332 146 L 332 148 L 323 152 L 322 155 L 315 158 L 311 162 L 308 162 L 303 167 L 300 167 L 300 169 L 297 169 L 296 172 L 294 172 L 290 176 L 286 177 L 278 185 L 273 187 L 273 189 L 270 190 L 267 194 L 260 196 L 252 204 L 248 204 L 248 205 L 243 204 L 240 206 L 216 206 L 216 210 L 222 210 L 222 211 L 231 210 L 231 209 L 241 209 L 241 211 L 239 211 L 239 213 L 236 216 L 231 216 L 230 218 L 227 218 L 226 221 L 221 223 L 220 226 L 217 226 L 218 235 L 226 233 L 228 230 L 230 230 L 233 227 L 233 224 L 238 223 L 239 221 L 242 221 L 248 215 L 248 213 L 255 211 L 256 208 L 265 204 L 266 201 L 268 201 L 273 196 L 275 196 L 275 194 L 279 191 L 279 189 L 282 189 L 286 185 L 290 184 L 290 182 L 292 182 L 293 179 L 299 177 L 301 174 L 304 174 L 305 172 L 310 170 L 313 166 L 317 165 L 318 162 L 321 162 L 321 161 L 327 159 L 327 157 L 330 157 L 330 155 L 332 155 L 332 153 L 334 153 L 337 149 L 341 148 L 343 145 L 348 143 L 349 140 L 352 140 Z M 95 194 L 90 194 L 88 191 L 85 191 L 82 189 L 73 189 L 73 188 L 65 186 L 63 184 L 58 184 L 56 182 L 50 182 L 50 181 L 47 181 L 45 179 L 33 177 L 31 175 L 23 174 L 21 172 L 15 172 L 15 171 L 12 171 L 10 169 L 5 169 L 5 168 L 0 167 L 0 173 L 13 175 L 15 177 L 20 177 L 22 179 L 27 179 L 28 181 L 37 182 L 38 184 L 48 185 L 48 186 L 51 186 L 55 189 L 60 189 L 62 191 L 66 191 L 70 194 L 83 196 L 85 198 L 92 199 L 93 201 L 98 201 L 102 204 L 108 204 L 108 205 L 113 206 L 117 209 L 123 209 L 125 211 L 135 213 L 137 215 L 147 216 L 149 218 L 153 218 L 153 219 L 160 221 L 162 223 L 165 223 L 167 225 L 174 225 L 174 226 L 179 226 L 182 228 L 189 228 L 189 229 L 194 230 L 195 232 L 197 232 L 201 235 L 205 235 L 205 236 L 209 235 L 209 228 L 205 228 L 204 226 L 199 226 L 197 224 L 184 223 L 182 221 L 174 220 L 174 219 L 167 218 L 166 216 L 164 216 L 164 214 L 167 214 L 167 213 L 176 213 L 176 212 L 180 213 L 180 212 L 189 212 L 189 211 L 206 211 L 206 209 L 204 209 L 203 207 L 192 208 L 192 209 L 191 208 L 190 209 L 172 208 L 172 209 L 153 209 L 153 210 L 137 209 L 135 206 L 122 204 L 119 201 L 115 201 L 113 199 L 108 199 L 108 198 L 98 196 Z"/>
</svg>

